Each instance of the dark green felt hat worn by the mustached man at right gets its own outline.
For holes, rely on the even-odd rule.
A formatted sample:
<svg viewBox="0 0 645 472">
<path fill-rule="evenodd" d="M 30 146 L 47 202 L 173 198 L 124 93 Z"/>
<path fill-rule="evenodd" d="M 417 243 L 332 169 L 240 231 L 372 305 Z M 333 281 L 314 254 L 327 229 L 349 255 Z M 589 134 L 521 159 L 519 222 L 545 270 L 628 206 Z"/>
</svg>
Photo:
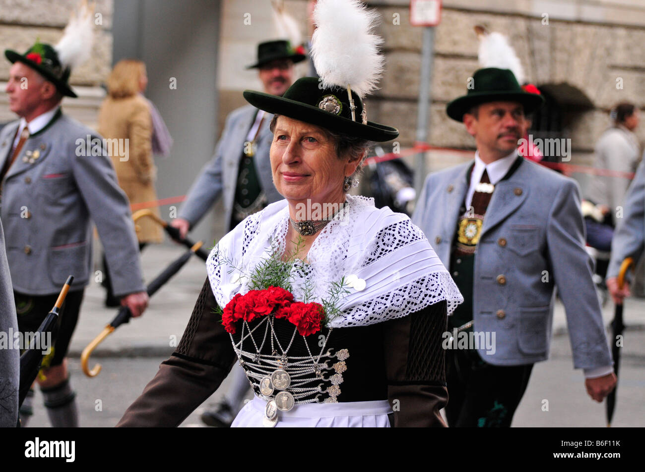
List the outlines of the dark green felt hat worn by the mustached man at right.
<svg viewBox="0 0 645 472">
<path fill-rule="evenodd" d="M 524 91 L 508 69 L 489 67 L 479 69 L 473 74 L 473 88 L 463 97 L 452 100 L 446 107 L 446 113 L 453 120 L 461 122 L 464 113 L 473 106 L 486 102 L 519 102 L 525 113 L 531 113 L 544 103 L 541 95 Z"/>
</svg>

